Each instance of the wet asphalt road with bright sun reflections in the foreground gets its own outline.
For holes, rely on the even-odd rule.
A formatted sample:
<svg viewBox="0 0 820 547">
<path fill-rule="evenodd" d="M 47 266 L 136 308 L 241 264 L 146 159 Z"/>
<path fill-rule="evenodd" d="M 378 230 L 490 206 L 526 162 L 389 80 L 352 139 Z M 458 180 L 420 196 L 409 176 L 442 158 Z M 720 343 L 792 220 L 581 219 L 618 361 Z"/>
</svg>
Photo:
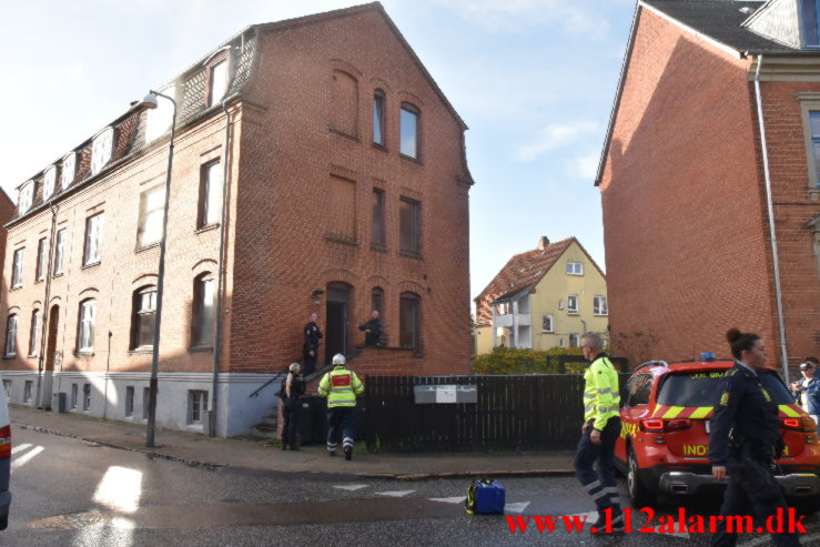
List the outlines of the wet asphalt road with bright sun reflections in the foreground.
<svg viewBox="0 0 820 547">
<path fill-rule="evenodd" d="M 510 533 L 506 516 L 464 514 L 466 479 L 407 483 L 209 470 L 19 428 L 13 439 L 13 499 L 0 545 L 688 546 L 707 545 L 709 538 L 679 531 L 679 499 L 666 500 L 650 523 L 667 515 L 675 519 L 674 533 L 600 537 L 590 535 L 588 525 L 569 534 L 563 521 L 553 533 L 539 533 L 527 516 L 584 518 L 591 509 L 570 477 L 503 480 L 507 516 L 527 523 L 526 531 Z M 717 504 L 690 499 L 685 508 L 688 516 L 708 518 L 717 514 Z M 637 530 L 646 514 L 636 513 L 632 520 Z M 803 544 L 820 541 L 818 515 L 804 521 Z M 770 540 L 747 535 L 739 545 Z"/>
</svg>

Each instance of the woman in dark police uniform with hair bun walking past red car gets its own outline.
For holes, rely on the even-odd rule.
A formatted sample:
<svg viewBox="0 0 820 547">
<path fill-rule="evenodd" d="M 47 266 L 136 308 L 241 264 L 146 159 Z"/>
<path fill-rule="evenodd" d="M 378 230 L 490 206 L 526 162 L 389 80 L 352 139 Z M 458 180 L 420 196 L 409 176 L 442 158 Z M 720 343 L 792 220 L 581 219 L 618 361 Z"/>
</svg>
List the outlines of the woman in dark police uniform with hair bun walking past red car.
<svg viewBox="0 0 820 547">
<path fill-rule="evenodd" d="M 732 328 L 726 335 L 735 366 L 723 376 L 720 398 L 715 405 L 709 435 L 709 459 L 712 476 L 729 484 L 723 495 L 720 515 L 752 515 L 761 525 L 788 506 L 772 474 L 773 460 L 780 457 L 778 406 L 766 391 L 758 371 L 766 365 L 766 350 L 760 336 Z M 775 545 L 800 545 L 796 534 L 772 534 Z M 733 546 L 737 534 L 726 531 L 726 521 L 718 523 L 711 546 Z"/>
</svg>

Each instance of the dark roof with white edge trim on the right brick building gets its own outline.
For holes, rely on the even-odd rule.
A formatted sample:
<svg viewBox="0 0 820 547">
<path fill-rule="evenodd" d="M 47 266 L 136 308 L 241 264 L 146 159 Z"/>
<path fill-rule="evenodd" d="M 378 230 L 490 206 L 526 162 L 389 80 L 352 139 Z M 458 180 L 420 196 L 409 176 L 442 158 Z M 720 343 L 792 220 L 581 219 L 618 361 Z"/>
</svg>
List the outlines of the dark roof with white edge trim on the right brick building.
<svg viewBox="0 0 820 547">
<path fill-rule="evenodd" d="M 615 121 L 624 92 L 626 77 L 629 69 L 629 59 L 632 54 L 635 33 L 638 28 L 638 19 L 644 9 L 649 9 L 668 19 L 674 24 L 685 29 L 695 36 L 701 36 L 727 51 L 733 51 L 738 57 L 746 54 L 799 54 L 820 55 L 820 50 L 801 50 L 787 44 L 769 40 L 743 26 L 747 20 L 755 17 L 767 1 L 738 1 L 738 0 L 638 0 L 635 6 L 632 27 L 629 33 L 629 42 L 624 62 L 620 68 L 618 88 L 615 93 L 615 102 L 609 114 L 609 125 L 604 140 L 598 172 L 595 175 L 595 185 L 598 186 L 604 178 L 604 169 L 609 154 L 609 144 L 613 139 Z"/>
</svg>

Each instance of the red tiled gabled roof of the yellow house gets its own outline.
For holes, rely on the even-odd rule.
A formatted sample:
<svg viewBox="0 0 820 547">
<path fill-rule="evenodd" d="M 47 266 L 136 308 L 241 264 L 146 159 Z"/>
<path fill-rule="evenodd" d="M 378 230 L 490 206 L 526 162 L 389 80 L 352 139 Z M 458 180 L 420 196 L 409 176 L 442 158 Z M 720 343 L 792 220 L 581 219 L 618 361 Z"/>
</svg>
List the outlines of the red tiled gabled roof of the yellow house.
<svg viewBox="0 0 820 547">
<path fill-rule="evenodd" d="M 584 245 L 577 239 L 569 237 L 550 243 L 546 249 L 536 249 L 514 255 L 507 261 L 500 272 L 493 277 L 489 285 L 475 297 L 475 302 L 479 302 L 487 296 L 493 297 L 493 300 L 504 300 L 505 297 L 516 295 L 525 288 L 529 291 L 534 290 L 573 243 L 576 243 L 580 247 L 589 262 L 604 275 L 604 272 L 600 271 L 598 264 L 589 256 Z"/>
</svg>

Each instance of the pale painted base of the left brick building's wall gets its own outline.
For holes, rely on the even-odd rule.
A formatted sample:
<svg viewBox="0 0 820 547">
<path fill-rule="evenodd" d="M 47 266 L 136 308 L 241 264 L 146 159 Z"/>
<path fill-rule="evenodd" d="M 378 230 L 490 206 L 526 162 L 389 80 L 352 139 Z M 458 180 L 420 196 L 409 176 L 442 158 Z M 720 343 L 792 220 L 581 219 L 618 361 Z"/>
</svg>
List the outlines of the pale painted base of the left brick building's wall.
<svg viewBox="0 0 820 547">
<path fill-rule="evenodd" d="M 38 373 L 34 371 L 2 371 L 2 379 L 10 383 L 9 403 L 36 405 Z M 51 395 L 42 394 L 43 401 L 50 398 L 52 409 L 57 409 L 58 394 L 65 393 L 65 412 L 87 414 L 107 419 L 118 419 L 135 424 L 146 424 L 148 401 L 143 393 L 149 386 L 150 373 L 102 373 L 102 372 L 55 372 L 52 378 Z M 244 435 L 262 417 L 275 408 L 280 382 L 265 386 L 255 397 L 250 395 L 275 377 L 273 374 L 220 374 L 216 386 L 216 436 L 232 437 Z M 41 376 L 41 389 L 47 387 Z M 32 382 L 32 398 L 24 401 L 26 382 Z M 77 384 L 77 405 L 72 407 L 72 385 Z M 91 401 L 83 409 L 83 385 L 91 385 Z M 133 414 L 125 416 L 126 388 L 134 388 Z M 160 373 L 156 397 L 156 426 L 169 429 L 206 433 L 204 423 L 189 423 L 189 392 L 207 392 L 207 409 L 213 408 L 213 375 L 209 373 Z M 204 418 L 204 416 L 203 416 Z"/>
</svg>

